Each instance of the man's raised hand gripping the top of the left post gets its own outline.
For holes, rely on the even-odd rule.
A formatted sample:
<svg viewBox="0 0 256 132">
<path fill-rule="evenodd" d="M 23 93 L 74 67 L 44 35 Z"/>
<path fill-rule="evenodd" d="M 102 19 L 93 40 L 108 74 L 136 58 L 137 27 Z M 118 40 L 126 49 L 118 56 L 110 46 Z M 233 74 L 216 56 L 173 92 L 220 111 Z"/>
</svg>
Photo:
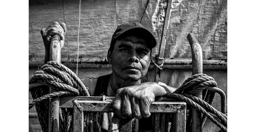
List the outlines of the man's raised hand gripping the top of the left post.
<svg viewBox="0 0 256 132">
<path fill-rule="evenodd" d="M 60 39 L 61 39 L 60 42 L 63 47 L 65 34 L 66 34 L 66 24 L 64 23 L 59 24 L 58 22 L 55 21 L 52 24 L 50 24 L 50 26 L 48 26 L 47 28 L 43 28 L 41 30 L 41 35 L 43 37 L 43 43 L 45 45 L 46 52 L 50 50 L 50 44 L 51 44 L 52 36 L 54 34 L 58 34 L 60 36 Z"/>
</svg>

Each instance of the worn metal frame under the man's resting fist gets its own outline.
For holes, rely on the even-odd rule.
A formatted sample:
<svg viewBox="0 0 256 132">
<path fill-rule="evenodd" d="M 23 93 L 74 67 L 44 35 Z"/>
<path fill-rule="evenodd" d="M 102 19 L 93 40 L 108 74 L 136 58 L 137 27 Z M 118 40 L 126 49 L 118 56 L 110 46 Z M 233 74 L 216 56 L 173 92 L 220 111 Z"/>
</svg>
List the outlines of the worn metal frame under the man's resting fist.
<svg viewBox="0 0 256 132">
<path fill-rule="evenodd" d="M 102 101 L 102 97 L 62 97 L 59 101 L 59 108 L 73 108 L 73 132 L 84 132 L 83 112 L 114 112 L 111 101 L 113 99 L 114 97 L 105 97 L 105 100 Z M 185 102 L 180 102 L 176 99 L 161 98 L 151 104 L 149 112 L 166 114 L 173 113 L 174 132 L 185 132 Z M 165 132 L 165 130 L 160 131 Z M 132 132 L 132 130 L 126 130 L 126 132 Z"/>
</svg>

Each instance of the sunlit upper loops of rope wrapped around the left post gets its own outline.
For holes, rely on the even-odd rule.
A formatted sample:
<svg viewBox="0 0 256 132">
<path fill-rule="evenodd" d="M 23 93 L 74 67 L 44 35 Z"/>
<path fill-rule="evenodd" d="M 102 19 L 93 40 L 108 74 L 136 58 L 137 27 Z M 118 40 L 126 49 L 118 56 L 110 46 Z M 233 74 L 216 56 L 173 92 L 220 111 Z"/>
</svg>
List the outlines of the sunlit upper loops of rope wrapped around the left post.
<svg viewBox="0 0 256 132">
<path fill-rule="evenodd" d="M 35 82 L 40 82 L 43 85 L 52 87 L 54 90 L 64 90 L 66 92 L 54 92 L 34 99 L 29 104 L 29 109 L 38 104 L 40 101 L 45 101 L 46 99 L 59 96 L 90 96 L 87 88 L 83 82 L 81 82 L 81 80 L 75 75 L 75 73 L 56 61 L 49 61 L 47 64 L 41 67 L 40 71 L 36 71 L 31 76 L 29 84 Z"/>
</svg>

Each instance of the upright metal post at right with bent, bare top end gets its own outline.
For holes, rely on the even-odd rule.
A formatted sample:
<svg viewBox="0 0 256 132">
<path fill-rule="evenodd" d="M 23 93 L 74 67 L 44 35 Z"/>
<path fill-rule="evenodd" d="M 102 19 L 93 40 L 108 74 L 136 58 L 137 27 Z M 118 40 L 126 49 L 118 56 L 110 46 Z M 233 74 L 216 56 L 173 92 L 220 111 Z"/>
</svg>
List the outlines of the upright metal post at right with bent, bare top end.
<svg viewBox="0 0 256 132">
<path fill-rule="evenodd" d="M 192 52 L 192 75 L 203 73 L 203 53 L 199 42 L 195 35 L 190 33 L 187 35 Z M 202 92 L 194 94 L 194 96 L 202 99 Z M 201 132 L 201 113 L 192 108 L 192 132 Z"/>
</svg>

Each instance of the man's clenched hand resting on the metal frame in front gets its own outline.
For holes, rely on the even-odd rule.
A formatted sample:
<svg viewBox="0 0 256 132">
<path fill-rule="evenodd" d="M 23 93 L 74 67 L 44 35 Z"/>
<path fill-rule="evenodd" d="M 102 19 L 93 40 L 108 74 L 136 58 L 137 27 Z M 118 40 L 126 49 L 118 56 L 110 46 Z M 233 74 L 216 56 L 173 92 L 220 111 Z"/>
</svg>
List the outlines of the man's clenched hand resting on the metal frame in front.
<svg viewBox="0 0 256 132">
<path fill-rule="evenodd" d="M 166 89 L 156 82 L 123 87 L 116 92 L 113 108 L 120 118 L 148 118 L 151 115 L 149 106 L 154 102 L 155 97 L 162 97 L 166 93 Z M 112 122 L 117 123 L 120 118 L 114 116 Z"/>
</svg>

